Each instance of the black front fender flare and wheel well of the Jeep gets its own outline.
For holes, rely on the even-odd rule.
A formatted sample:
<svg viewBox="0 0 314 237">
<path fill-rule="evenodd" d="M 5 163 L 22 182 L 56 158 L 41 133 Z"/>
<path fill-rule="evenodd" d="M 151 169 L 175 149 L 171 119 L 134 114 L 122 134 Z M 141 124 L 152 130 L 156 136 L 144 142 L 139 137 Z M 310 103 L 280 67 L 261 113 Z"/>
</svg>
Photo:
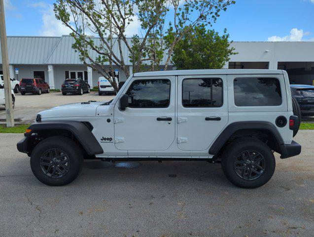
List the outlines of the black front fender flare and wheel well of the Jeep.
<svg viewBox="0 0 314 237">
<path fill-rule="evenodd" d="M 24 145 L 28 154 L 32 153 L 40 141 L 52 136 L 70 137 L 82 147 L 88 156 L 104 153 L 92 133 L 93 126 L 89 122 L 66 120 L 42 121 L 31 124 L 28 129 L 31 132 L 25 133 L 27 138 L 25 142 L 27 144 Z"/>
</svg>

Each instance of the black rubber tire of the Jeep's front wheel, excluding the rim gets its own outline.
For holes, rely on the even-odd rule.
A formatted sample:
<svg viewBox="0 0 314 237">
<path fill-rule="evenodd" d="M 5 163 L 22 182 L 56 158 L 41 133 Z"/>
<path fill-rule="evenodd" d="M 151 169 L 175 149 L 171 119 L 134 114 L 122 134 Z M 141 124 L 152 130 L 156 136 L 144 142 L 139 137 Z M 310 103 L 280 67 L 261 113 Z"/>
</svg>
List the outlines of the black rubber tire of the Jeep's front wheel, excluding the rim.
<svg viewBox="0 0 314 237">
<path fill-rule="evenodd" d="M 60 149 L 64 151 L 70 160 L 68 172 L 59 178 L 47 176 L 41 166 L 40 158 L 50 149 Z M 53 136 L 38 143 L 31 155 L 31 168 L 35 177 L 42 183 L 50 186 L 62 186 L 72 182 L 81 172 L 83 167 L 83 152 L 80 147 L 70 138 Z"/>
</svg>

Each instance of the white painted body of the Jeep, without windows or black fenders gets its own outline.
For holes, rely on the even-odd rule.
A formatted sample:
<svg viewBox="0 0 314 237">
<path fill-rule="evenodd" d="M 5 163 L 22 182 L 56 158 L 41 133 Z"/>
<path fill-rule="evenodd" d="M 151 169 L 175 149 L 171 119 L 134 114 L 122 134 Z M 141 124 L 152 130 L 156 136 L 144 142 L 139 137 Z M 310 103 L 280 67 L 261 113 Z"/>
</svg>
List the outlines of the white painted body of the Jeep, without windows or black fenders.
<svg viewBox="0 0 314 237">
<path fill-rule="evenodd" d="M 236 77 L 278 78 L 282 94 L 280 106 L 237 107 L 233 81 Z M 184 78 L 221 78 L 223 106 L 220 108 L 183 108 L 181 83 Z M 168 108 L 119 109 L 119 99 L 134 80 L 169 79 L 171 81 Z M 40 112 L 42 121 L 89 121 L 93 134 L 104 154 L 99 158 L 212 158 L 209 148 L 224 128 L 238 121 L 266 121 L 272 124 L 281 115 L 289 121 L 292 103 L 287 74 L 282 70 L 191 70 L 138 73 L 130 77 L 109 105 L 103 102 L 70 104 Z M 171 117 L 172 121 L 158 121 Z M 205 121 L 205 117 L 220 117 L 220 121 Z M 107 120 L 107 119 L 110 120 Z M 202 118 L 202 119 L 199 119 Z M 204 119 L 203 119 L 204 118 Z M 179 122 L 180 121 L 180 122 Z M 276 126 L 276 125 L 275 125 Z M 277 126 L 276 126 L 277 127 Z M 278 128 L 278 127 L 277 127 Z M 293 131 L 289 125 L 278 128 L 285 144 L 291 144 Z M 111 142 L 101 142 L 103 137 Z M 186 138 L 186 139 L 183 139 Z M 179 142 L 180 141 L 180 142 Z"/>
</svg>

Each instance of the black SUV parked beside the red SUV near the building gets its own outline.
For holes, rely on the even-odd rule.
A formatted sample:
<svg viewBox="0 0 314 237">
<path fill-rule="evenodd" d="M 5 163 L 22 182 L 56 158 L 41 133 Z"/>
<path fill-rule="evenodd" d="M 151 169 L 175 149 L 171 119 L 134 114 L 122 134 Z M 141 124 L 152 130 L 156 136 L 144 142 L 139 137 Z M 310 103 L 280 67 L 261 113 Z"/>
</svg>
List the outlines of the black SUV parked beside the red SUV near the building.
<svg viewBox="0 0 314 237">
<path fill-rule="evenodd" d="M 91 91 L 90 85 L 83 79 L 66 79 L 61 85 L 62 94 L 74 93 L 82 95 L 84 92 Z"/>
</svg>

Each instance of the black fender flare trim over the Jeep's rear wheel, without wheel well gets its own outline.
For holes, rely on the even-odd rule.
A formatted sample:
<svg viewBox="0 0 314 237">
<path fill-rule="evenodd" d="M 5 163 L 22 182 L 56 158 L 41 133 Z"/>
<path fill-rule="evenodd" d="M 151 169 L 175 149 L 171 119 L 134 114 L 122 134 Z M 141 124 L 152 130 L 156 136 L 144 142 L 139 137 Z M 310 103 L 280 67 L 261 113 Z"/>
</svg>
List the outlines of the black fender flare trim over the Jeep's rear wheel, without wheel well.
<svg viewBox="0 0 314 237">
<path fill-rule="evenodd" d="M 245 122 L 234 122 L 229 124 L 216 138 L 214 143 L 209 148 L 210 155 L 217 155 L 220 149 L 224 146 L 227 140 L 239 130 L 264 130 L 271 133 L 274 139 L 277 141 L 279 145 L 279 150 L 282 152 L 282 146 L 284 146 L 283 139 L 278 131 L 278 129 L 274 126 L 274 124 L 267 121 L 245 121 Z M 281 154 L 281 153 L 280 153 Z"/>
</svg>

